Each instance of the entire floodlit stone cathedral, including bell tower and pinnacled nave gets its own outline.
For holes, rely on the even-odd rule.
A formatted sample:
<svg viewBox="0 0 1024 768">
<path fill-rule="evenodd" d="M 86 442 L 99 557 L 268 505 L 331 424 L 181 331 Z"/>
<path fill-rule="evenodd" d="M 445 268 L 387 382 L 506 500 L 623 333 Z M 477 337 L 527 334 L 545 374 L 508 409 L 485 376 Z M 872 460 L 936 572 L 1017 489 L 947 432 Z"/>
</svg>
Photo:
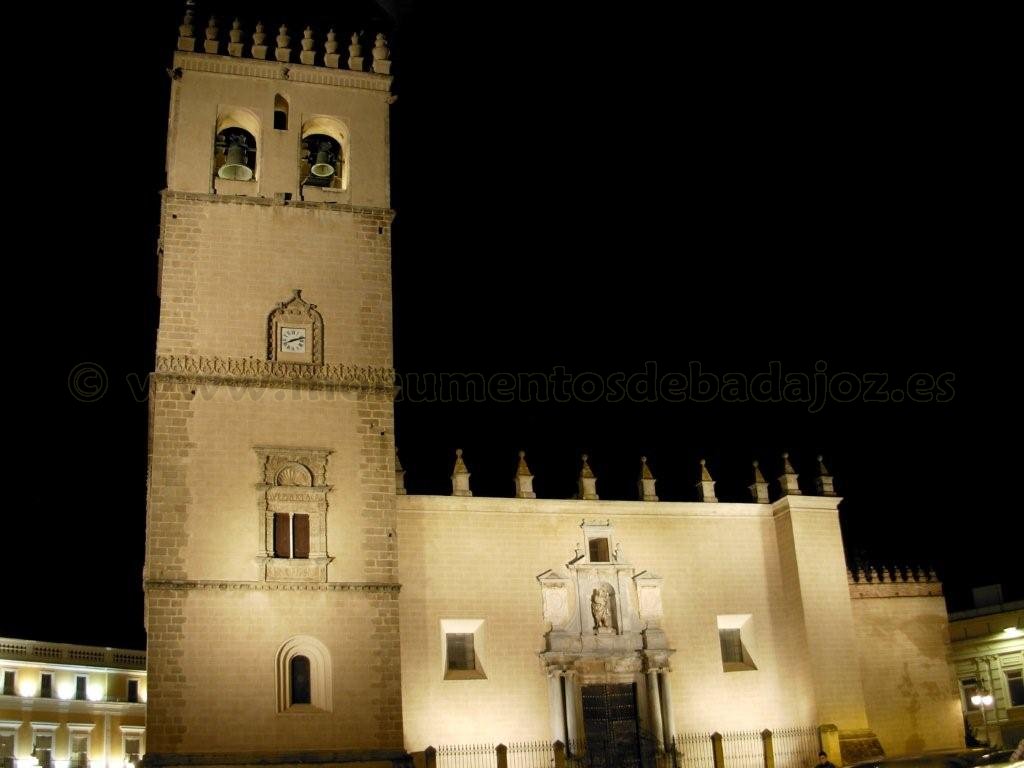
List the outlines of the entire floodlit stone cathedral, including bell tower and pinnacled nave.
<svg viewBox="0 0 1024 768">
<path fill-rule="evenodd" d="M 407 765 L 528 741 L 695 766 L 708 736 L 720 766 L 722 734 L 774 733 L 781 768 L 963 744 L 941 585 L 847 570 L 824 465 L 811 494 L 783 457 L 774 501 L 755 466 L 751 501 L 728 503 L 708 467 L 700 501 L 659 501 L 638 463 L 637 500 L 608 501 L 582 457 L 577 498 L 556 500 L 520 454 L 514 496 L 483 498 L 460 452 L 451 496 L 406 493 L 390 66 L 383 35 L 181 25 L 146 764 Z"/>
</svg>

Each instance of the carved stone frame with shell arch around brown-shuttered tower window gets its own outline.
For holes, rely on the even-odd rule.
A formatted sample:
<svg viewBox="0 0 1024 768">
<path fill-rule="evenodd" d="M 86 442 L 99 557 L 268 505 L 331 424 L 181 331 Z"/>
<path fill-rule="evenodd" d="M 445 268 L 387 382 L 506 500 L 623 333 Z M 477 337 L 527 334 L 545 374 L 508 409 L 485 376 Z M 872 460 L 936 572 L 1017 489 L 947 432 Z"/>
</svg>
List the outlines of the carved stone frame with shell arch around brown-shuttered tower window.
<svg viewBox="0 0 1024 768">
<path fill-rule="evenodd" d="M 254 445 L 259 466 L 256 483 L 259 541 L 258 579 L 264 582 L 327 582 L 334 560 L 327 551 L 327 461 L 330 449 Z M 274 514 L 309 517 L 309 557 L 273 556 Z"/>
</svg>

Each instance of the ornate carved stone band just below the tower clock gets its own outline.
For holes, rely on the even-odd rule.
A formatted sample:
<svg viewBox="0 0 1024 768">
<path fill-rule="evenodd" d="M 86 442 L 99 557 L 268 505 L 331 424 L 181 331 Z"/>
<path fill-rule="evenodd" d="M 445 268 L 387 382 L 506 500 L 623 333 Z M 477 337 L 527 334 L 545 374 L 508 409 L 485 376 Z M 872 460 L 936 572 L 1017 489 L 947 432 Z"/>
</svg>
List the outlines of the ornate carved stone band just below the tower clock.
<svg viewBox="0 0 1024 768">
<path fill-rule="evenodd" d="M 254 357 L 205 357 L 203 355 L 157 355 L 156 378 L 253 387 L 309 389 L 371 389 L 394 393 L 394 369 L 377 366 L 346 366 L 328 362 L 310 366 L 275 362 Z"/>
</svg>

